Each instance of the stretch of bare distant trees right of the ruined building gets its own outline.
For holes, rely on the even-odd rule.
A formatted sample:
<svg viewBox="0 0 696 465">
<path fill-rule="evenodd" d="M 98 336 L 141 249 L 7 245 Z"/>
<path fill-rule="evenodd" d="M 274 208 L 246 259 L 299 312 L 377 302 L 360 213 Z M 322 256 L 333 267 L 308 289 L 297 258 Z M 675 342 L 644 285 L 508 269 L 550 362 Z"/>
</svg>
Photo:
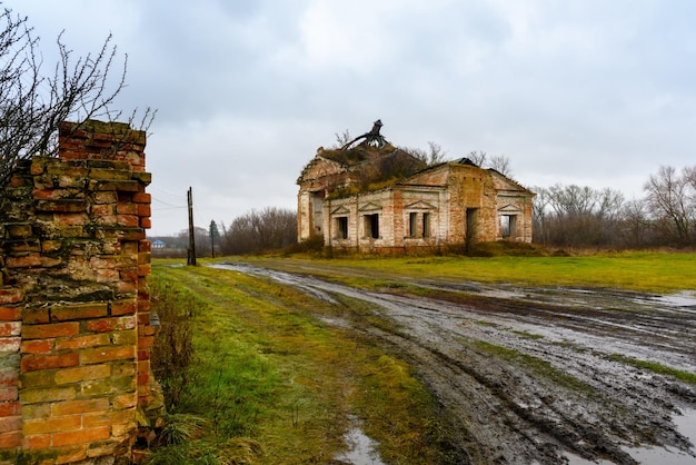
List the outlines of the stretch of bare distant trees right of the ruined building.
<svg viewBox="0 0 696 465">
<path fill-rule="evenodd" d="M 531 188 L 534 241 L 555 247 L 696 246 L 696 166 L 662 166 L 626 200 L 618 190 L 575 185 Z"/>
</svg>

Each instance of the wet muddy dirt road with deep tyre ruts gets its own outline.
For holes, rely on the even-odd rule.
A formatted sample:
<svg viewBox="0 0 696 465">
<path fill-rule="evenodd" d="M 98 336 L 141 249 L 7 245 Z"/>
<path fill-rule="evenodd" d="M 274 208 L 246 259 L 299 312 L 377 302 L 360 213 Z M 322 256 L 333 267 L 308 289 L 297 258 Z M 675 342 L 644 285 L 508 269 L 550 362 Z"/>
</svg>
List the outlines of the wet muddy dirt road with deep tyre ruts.
<svg viewBox="0 0 696 465">
<path fill-rule="evenodd" d="M 371 303 L 389 324 L 370 324 L 349 308 L 327 323 L 350 326 L 414 366 L 460 432 L 465 462 L 696 463 L 695 386 L 655 373 L 696 374 L 694 297 L 409 281 L 437 290 L 424 298 L 328 283 L 308 268 L 218 266 L 324 300 Z"/>
</svg>

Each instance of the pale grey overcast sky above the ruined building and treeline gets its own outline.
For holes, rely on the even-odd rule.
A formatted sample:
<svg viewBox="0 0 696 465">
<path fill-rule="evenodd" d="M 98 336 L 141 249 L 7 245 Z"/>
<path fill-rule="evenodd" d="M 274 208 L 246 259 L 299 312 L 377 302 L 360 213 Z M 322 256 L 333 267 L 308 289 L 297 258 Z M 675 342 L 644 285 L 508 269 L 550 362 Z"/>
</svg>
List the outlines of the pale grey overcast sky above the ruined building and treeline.
<svg viewBox="0 0 696 465">
<path fill-rule="evenodd" d="M 152 107 L 150 236 L 295 209 L 336 135 L 505 155 L 520 184 L 643 196 L 696 164 L 693 0 L 4 0 L 47 61 L 111 32 L 125 110 Z M 47 69 L 48 71 L 48 69 Z"/>
</svg>

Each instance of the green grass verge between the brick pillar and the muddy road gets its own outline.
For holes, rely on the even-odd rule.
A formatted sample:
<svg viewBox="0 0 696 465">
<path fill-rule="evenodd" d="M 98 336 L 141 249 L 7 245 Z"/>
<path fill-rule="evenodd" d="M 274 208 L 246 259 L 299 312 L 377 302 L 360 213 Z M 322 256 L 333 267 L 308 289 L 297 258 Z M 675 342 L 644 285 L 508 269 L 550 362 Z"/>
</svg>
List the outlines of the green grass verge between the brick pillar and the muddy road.
<svg viewBox="0 0 696 465">
<path fill-rule="evenodd" d="M 151 279 L 199 300 L 190 388 L 170 413 L 201 416 L 208 425 L 203 437 L 159 451 L 152 463 L 222 463 L 211 445 L 240 438 L 258 444 L 250 463 L 324 463 L 344 447 L 351 416 L 388 463 L 444 463 L 449 433 L 410 368 L 317 318 L 367 317 L 397 329 L 370 308 L 321 303 L 267 279 L 207 267 L 155 266 Z"/>
</svg>

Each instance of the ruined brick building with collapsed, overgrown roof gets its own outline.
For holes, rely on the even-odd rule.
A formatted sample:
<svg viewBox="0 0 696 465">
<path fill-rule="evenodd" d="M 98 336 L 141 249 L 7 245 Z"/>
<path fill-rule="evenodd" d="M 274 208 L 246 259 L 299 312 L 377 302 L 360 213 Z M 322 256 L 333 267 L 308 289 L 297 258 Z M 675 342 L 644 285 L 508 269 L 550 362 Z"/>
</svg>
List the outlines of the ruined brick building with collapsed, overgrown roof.
<svg viewBox="0 0 696 465">
<path fill-rule="evenodd" d="M 380 127 L 341 148 L 319 148 L 305 167 L 299 241 L 320 236 L 325 246 L 387 253 L 531 241 L 534 192 L 466 158 L 426 166 L 386 141 Z"/>
</svg>

